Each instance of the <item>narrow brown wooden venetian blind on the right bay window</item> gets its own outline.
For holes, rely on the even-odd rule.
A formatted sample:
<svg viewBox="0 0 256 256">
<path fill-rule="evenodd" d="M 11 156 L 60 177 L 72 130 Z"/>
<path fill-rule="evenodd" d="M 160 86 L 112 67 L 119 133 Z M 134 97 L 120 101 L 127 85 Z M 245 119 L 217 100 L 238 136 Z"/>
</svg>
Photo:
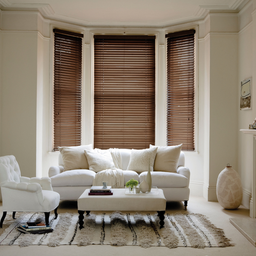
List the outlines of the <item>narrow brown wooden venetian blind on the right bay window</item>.
<svg viewBox="0 0 256 256">
<path fill-rule="evenodd" d="M 167 37 L 167 145 L 195 150 L 195 30 Z"/>
</svg>

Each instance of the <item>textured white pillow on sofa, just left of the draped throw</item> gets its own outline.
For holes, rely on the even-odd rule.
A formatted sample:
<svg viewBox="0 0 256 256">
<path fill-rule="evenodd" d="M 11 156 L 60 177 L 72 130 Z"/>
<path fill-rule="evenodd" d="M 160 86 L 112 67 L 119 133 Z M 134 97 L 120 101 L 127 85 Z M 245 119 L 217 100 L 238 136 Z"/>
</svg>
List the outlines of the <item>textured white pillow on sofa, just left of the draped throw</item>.
<svg viewBox="0 0 256 256">
<path fill-rule="evenodd" d="M 84 150 L 84 154 L 89 164 L 89 170 L 94 172 L 100 172 L 106 169 L 114 169 L 115 164 L 111 154 L 99 154 L 94 151 Z"/>
</svg>

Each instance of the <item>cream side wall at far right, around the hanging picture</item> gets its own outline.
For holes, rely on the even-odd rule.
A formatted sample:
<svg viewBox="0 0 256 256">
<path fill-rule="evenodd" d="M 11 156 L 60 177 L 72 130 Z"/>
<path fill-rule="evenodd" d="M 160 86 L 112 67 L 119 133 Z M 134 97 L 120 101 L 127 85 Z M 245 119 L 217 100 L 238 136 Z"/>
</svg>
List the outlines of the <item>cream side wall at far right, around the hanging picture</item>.
<svg viewBox="0 0 256 256">
<path fill-rule="evenodd" d="M 238 106 L 238 130 L 248 129 L 256 117 L 256 74 L 255 74 L 255 54 L 256 43 L 256 21 L 255 21 L 255 1 L 246 6 L 239 13 L 240 31 L 238 39 L 238 82 L 237 92 L 240 100 L 241 81 L 252 78 L 252 109 L 239 110 Z M 242 204 L 249 208 L 252 192 L 252 170 L 253 170 L 253 140 L 252 135 L 238 132 L 238 173 L 241 175 L 243 185 Z"/>
</svg>

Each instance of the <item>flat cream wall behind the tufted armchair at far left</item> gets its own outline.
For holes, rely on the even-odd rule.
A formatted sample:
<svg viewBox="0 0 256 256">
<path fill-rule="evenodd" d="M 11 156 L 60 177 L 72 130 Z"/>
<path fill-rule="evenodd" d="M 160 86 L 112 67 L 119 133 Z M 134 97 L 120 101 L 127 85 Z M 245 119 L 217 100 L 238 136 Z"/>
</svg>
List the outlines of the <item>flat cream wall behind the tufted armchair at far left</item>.
<svg viewBox="0 0 256 256">
<path fill-rule="evenodd" d="M 2 31 L 1 155 L 36 174 L 37 33 Z"/>
</svg>

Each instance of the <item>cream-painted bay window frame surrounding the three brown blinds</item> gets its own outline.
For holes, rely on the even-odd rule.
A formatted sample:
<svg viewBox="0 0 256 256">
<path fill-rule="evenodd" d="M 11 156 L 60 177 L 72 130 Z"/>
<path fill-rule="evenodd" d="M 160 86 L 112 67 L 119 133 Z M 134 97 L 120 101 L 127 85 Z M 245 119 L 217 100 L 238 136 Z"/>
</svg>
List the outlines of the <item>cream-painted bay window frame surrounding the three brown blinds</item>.
<svg viewBox="0 0 256 256">
<path fill-rule="evenodd" d="M 49 79 L 51 81 L 51 89 L 49 95 L 49 111 L 50 121 L 49 121 L 49 143 L 47 143 L 49 154 L 59 154 L 58 151 L 53 151 L 53 60 L 54 60 L 54 33 L 53 28 L 59 28 L 63 30 L 71 30 L 76 33 L 84 34 L 82 43 L 82 145 L 87 145 L 93 143 L 93 127 L 94 127 L 94 35 L 155 35 L 155 70 L 156 70 L 156 99 L 155 99 L 155 145 L 166 146 L 166 51 L 167 51 L 167 39 L 165 34 L 169 34 L 175 31 L 195 29 L 195 151 L 185 151 L 185 154 L 198 154 L 198 44 L 203 39 L 198 39 L 198 26 L 179 26 L 174 29 L 131 29 L 130 31 L 122 31 L 123 29 L 111 29 L 111 28 L 101 28 L 101 29 L 90 29 L 90 31 L 84 30 L 84 28 L 70 28 L 62 27 L 52 24 L 51 25 L 51 36 L 46 38 L 50 42 L 50 75 Z M 86 93 L 85 93 L 86 92 Z M 158 122 L 162 121 L 161 124 Z"/>
</svg>

